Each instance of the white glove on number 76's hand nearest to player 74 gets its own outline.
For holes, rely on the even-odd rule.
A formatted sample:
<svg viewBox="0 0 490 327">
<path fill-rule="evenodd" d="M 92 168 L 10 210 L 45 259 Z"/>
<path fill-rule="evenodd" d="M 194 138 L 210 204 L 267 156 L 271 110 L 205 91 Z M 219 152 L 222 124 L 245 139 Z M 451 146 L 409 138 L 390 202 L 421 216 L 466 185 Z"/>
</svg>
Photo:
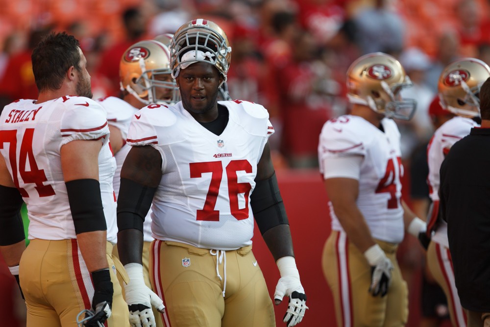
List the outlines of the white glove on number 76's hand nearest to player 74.
<svg viewBox="0 0 490 327">
<path fill-rule="evenodd" d="M 124 284 L 129 324 L 131 327 L 155 327 L 155 316 L 151 306 L 162 312 L 165 309 L 162 299 L 145 285 L 142 265 L 128 263 L 124 265 L 124 269 L 129 276 L 129 283 Z"/>
</svg>

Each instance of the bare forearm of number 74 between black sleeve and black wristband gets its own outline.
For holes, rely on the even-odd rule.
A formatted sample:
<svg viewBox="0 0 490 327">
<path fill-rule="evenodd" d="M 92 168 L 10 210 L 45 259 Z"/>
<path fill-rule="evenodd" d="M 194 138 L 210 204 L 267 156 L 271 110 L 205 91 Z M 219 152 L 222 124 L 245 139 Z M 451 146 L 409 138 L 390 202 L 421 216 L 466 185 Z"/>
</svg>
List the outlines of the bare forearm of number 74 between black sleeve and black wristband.
<svg viewBox="0 0 490 327">
<path fill-rule="evenodd" d="M 89 272 L 109 268 L 106 255 L 107 232 L 105 230 L 77 234 L 76 240 Z"/>
</svg>

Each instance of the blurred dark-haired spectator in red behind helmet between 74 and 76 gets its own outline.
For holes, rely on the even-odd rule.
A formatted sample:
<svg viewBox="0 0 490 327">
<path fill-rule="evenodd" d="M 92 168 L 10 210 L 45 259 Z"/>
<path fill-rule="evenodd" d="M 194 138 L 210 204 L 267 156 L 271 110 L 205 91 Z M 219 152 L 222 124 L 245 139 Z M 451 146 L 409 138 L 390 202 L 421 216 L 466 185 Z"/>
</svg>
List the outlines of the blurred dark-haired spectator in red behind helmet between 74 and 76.
<svg viewBox="0 0 490 327">
<path fill-rule="evenodd" d="M 101 55 L 101 60 L 98 66 L 98 73 L 109 79 L 109 85 L 112 89 L 111 96 L 119 96 L 119 60 L 124 51 L 134 43 L 144 40 L 146 37 L 146 25 L 144 16 L 137 7 L 128 8 L 123 12 L 123 24 L 125 29 L 124 40 L 117 42 L 113 46 L 105 50 Z"/>
</svg>

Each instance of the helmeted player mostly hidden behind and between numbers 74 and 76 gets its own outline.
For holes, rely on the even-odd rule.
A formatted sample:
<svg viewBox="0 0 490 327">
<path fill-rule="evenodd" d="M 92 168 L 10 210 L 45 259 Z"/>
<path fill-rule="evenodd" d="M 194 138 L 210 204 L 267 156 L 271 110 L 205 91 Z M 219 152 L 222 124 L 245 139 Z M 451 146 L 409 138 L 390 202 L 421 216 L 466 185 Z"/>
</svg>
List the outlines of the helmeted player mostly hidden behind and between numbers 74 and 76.
<svg viewBox="0 0 490 327">
<path fill-rule="evenodd" d="M 107 111 L 111 146 L 117 163 L 113 180 L 116 197 L 119 195 L 121 168 L 131 149 L 126 143 L 131 118 L 148 104 L 173 104 L 178 99 L 178 89 L 171 76 L 170 52 L 160 42 L 145 40 L 135 43 L 124 52 L 119 67 L 123 99 L 107 97 L 98 100 Z M 145 285 L 151 288 L 148 274 L 150 243 L 153 241 L 150 213 L 151 209 L 143 225 L 143 273 Z M 114 249 L 119 257 L 117 247 Z M 124 286 L 125 283 L 121 282 Z M 163 309 L 163 303 L 160 309 Z M 161 315 L 156 309 L 153 314 L 156 326 L 163 327 Z"/>
</svg>

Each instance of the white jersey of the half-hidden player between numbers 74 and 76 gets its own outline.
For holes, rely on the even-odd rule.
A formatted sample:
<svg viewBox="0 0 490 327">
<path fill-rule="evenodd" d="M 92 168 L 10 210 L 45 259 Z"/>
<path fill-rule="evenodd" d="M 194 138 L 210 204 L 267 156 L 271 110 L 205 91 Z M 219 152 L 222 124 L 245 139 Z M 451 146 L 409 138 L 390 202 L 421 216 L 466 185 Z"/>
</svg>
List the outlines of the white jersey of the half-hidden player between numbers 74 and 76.
<svg viewBox="0 0 490 327">
<path fill-rule="evenodd" d="M 114 187 L 114 192 L 116 193 L 116 198 L 119 195 L 119 188 L 121 186 L 121 169 L 123 168 L 124 159 L 126 159 L 131 147 L 126 143 L 127 131 L 129 130 L 129 125 L 131 125 L 131 119 L 133 115 L 138 112 L 136 109 L 126 101 L 116 98 L 116 97 L 106 97 L 97 100 L 107 111 L 107 122 L 109 125 L 114 126 L 119 129 L 121 136 L 123 137 L 123 147 L 114 154 L 116 158 L 116 174 L 114 174 L 114 179 L 112 185 Z M 151 209 L 148 211 L 145 217 L 145 222 L 143 223 L 143 240 L 145 242 L 153 241 L 151 237 Z"/>
</svg>

